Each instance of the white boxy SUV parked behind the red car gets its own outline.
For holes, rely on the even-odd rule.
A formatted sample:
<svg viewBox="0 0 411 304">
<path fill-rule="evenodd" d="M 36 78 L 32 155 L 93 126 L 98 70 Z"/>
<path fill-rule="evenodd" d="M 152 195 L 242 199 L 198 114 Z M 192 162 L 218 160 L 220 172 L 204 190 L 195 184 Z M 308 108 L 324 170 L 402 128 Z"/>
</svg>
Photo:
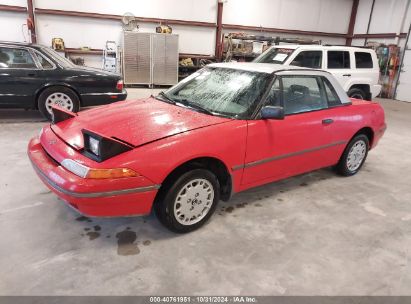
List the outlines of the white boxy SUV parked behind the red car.
<svg viewBox="0 0 411 304">
<path fill-rule="evenodd" d="M 381 91 L 381 85 L 378 84 L 378 59 L 372 49 L 326 45 L 276 45 L 254 59 L 254 62 L 326 70 L 334 75 L 352 98 L 370 100 Z"/>
</svg>

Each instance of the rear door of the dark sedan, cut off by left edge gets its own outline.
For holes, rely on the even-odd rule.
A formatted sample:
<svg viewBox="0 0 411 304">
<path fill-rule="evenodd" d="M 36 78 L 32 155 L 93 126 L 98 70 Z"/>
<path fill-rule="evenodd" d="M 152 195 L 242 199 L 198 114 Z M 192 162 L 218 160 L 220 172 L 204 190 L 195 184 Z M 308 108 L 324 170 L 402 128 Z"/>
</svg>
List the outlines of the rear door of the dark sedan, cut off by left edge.
<svg viewBox="0 0 411 304">
<path fill-rule="evenodd" d="M 0 46 L 0 107 L 31 108 L 38 72 L 29 49 Z"/>
</svg>

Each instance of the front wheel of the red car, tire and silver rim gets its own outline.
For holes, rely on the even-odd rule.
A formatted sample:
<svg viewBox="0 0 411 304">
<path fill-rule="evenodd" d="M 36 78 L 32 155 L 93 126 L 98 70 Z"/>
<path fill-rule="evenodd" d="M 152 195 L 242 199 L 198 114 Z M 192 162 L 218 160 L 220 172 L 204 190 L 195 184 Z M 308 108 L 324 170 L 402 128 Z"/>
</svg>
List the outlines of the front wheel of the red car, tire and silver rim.
<svg viewBox="0 0 411 304">
<path fill-rule="evenodd" d="M 164 186 L 154 210 L 159 221 L 177 233 L 187 233 L 204 225 L 220 200 L 220 183 L 205 169 L 188 171 L 168 187 Z"/>
</svg>

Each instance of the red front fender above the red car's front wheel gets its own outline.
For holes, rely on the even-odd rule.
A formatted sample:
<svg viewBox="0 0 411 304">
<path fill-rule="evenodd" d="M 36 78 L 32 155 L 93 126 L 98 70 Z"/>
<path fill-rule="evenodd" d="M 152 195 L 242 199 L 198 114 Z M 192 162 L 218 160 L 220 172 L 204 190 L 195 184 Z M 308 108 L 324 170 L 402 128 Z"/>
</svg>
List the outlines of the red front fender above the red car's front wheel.
<svg viewBox="0 0 411 304">
<path fill-rule="evenodd" d="M 202 157 L 220 160 L 233 179 L 234 190 L 241 183 L 242 170 L 232 167 L 244 163 L 247 122 L 232 120 L 164 138 L 136 148 L 129 167 L 155 183 L 161 184 L 182 164 Z"/>
</svg>

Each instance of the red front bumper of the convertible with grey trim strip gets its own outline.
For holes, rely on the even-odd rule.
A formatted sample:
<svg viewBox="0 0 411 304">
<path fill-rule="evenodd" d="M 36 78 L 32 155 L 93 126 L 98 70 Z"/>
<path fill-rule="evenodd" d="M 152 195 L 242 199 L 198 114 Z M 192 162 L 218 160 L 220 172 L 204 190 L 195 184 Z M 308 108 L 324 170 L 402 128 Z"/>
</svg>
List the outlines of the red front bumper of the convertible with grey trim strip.
<svg viewBox="0 0 411 304">
<path fill-rule="evenodd" d="M 80 213 L 88 216 L 148 214 L 160 187 L 147 184 L 144 177 L 134 178 L 139 186 L 133 188 L 119 187 L 120 179 L 96 180 L 78 177 L 53 160 L 38 138 L 30 141 L 28 155 L 43 183 Z M 108 185 L 112 185 L 112 188 L 107 189 Z"/>
</svg>

